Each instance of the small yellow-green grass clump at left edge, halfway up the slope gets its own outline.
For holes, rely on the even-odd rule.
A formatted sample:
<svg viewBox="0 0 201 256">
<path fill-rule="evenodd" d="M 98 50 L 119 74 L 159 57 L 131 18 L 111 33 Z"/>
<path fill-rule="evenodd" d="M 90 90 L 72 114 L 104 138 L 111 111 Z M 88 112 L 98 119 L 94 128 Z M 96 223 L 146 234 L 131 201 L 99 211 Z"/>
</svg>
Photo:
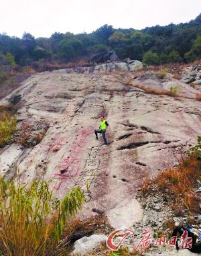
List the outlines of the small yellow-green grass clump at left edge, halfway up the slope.
<svg viewBox="0 0 201 256">
<path fill-rule="evenodd" d="M 11 134 L 15 131 L 17 126 L 17 118 L 5 112 L 0 116 L 0 146 L 11 140 Z"/>
</svg>

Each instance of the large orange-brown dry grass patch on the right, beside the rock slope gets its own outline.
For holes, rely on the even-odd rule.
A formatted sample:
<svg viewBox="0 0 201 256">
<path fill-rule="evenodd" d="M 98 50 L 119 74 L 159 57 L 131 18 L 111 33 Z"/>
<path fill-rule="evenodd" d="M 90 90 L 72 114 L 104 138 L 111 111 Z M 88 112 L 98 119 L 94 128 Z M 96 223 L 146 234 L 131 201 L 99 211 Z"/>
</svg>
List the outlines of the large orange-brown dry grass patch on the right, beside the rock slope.
<svg viewBox="0 0 201 256">
<path fill-rule="evenodd" d="M 200 213 L 201 195 L 195 193 L 197 180 L 201 179 L 201 136 L 198 144 L 188 151 L 188 155 L 181 152 L 180 163 L 177 167 L 159 173 L 153 179 L 145 179 L 141 186 L 143 193 L 150 193 L 151 187 L 158 187 L 167 202 L 171 202 L 172 210 L 181 216 L 188 212 L 190 216 Z"/>
</svg>

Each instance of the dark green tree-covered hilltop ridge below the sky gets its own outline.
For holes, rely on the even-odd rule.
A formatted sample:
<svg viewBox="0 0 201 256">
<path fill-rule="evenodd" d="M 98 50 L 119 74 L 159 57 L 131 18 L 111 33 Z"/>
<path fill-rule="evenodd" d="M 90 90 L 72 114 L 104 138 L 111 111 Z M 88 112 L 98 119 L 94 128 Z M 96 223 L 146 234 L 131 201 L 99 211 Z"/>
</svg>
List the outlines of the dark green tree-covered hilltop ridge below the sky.
<svg viewBox="0 0 201 256">
<path fill-rule="evenodd" d="M 76 62 L 89 60 L 98 53 L 107 56 L 113 48 L 121 60 L 132 58 L 147 64 L 192 62 L 201 58 L 201 14 L 185 24 L 153 26 L 143 30 L 114 29 L 104 25 L 90 34 L 55 32 L 50 38 L 22 38 L 0 34 L 0 64 L 34 65 L 41 62 Z"/>
</svg>

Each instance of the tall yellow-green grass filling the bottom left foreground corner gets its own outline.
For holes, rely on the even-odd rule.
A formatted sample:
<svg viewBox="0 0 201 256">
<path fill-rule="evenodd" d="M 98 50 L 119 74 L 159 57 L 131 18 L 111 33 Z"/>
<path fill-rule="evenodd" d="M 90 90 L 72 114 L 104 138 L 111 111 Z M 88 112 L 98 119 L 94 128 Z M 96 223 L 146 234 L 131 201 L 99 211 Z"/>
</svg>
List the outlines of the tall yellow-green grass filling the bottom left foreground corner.
<svg viewBox="0 0 201 256">
<path fill-rule="evenodd" d="M 56 200 L 46 181 L 30 185 L 0 179 L 0 255 L 49 256 L 61 254 L 64 226 L 82 208 L 78 187 Z"/>
</svg>

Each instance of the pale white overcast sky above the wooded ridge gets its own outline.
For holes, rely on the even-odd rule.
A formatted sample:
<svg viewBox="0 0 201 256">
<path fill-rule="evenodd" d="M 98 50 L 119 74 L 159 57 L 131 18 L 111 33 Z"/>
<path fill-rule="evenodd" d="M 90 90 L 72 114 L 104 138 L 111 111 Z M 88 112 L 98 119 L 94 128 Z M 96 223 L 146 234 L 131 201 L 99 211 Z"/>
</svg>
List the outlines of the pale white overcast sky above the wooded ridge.
<svg viewBox="0 0 201 256">
<path fill-rule="evenodd" d="M 180 24 L 201 13 L 200 0 L 0 0 L 0 34 L 90 33 L 108 24 L 135 28 Z"/>
</svg>

